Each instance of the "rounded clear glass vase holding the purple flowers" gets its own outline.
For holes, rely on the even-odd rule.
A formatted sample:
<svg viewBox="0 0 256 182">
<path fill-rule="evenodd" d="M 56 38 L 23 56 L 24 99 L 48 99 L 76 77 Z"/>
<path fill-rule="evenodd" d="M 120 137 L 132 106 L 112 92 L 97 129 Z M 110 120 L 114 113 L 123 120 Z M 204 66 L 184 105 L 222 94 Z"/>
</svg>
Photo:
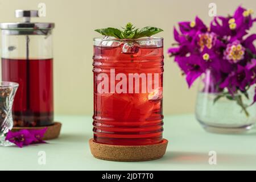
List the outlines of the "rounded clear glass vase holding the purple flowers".
<svg viewBox="0 0 256 182">
<path fill-rule="evenodd" d="M 244 92 L 228 93 L 218 88 L 210 71 L 201 78 L 197 93 L 196 118 L 206 131 L 243 133 L 256 122 L 256 104 L 252 105 L 255 86 Z"/>
</svg>

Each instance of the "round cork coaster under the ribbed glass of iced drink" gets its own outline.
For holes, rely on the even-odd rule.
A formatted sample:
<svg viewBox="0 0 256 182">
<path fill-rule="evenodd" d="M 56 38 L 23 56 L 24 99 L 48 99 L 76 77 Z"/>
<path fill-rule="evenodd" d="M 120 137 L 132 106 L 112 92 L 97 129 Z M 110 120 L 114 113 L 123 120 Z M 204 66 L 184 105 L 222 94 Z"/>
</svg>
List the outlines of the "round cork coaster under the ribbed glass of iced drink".
<svg viewBox="0 0 256 182">
<path fill-rule="evenodd" d="M 166 153 L 168 140 L 146 146 L 115 146 L 89 140 L 90 151 L 97 159 L 113 161 L 146 161 L 160 159 Z"/>
</svg>

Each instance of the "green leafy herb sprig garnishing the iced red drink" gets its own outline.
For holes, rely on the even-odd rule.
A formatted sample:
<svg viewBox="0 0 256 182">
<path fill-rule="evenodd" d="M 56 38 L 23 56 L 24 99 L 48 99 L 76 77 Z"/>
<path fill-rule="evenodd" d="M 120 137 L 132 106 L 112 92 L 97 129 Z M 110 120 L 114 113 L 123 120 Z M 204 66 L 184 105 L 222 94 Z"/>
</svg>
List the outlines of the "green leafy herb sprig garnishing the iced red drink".
<svg viewBox="0 0 256 182">
<path fill-rule="evenodd" d="M 96 32 L 99 32 L 101 35 L 105 36 L 113 36 L 117 39 L 138 39 L 143 37 L 149 37 L 163 30 L 161 28 L 156 27 L 144 27 L 144 28 L 136 28 L 131 23 L 127 23 L 123 30 L 119 30 L 117 28 L 101 28 L 96 29 Z"/>
</svg>

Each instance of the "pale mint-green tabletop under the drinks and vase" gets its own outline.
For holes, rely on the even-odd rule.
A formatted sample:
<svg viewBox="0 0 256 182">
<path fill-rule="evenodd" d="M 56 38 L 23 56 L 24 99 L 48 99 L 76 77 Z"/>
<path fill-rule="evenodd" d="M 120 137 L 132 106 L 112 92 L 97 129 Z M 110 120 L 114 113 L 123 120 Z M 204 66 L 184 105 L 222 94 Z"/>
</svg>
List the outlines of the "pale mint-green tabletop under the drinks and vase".
<svg viewBox="0 0 256 182">
<path fill-rule="evenodd" d="M 63 123 L 58 139 L 47 144 L 18 148 L 0 147 L 1 170 L 245 170 L 256 169 L 256 130 L 249 134 L 207 133 L 194 115 L 164 118 L 164 138 L 169 140 L 166 155 L 148 162 L 110 162 L 90 154 L 92 117 L 56 115 Z M 40 151 L 46 164 L 39 164 Z M 217 164 L 210 165 L 209 151 L 217 154 Z"/>
</svg>

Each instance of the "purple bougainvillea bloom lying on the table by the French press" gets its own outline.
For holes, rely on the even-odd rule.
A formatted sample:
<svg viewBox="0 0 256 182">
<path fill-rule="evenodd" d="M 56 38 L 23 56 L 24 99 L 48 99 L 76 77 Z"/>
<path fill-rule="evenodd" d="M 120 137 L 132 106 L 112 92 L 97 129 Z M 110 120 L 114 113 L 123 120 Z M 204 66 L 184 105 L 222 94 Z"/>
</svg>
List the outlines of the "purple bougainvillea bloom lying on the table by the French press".
<svg viewBox="0 0 256 182">
<path fill-rule="evenodd" d="M 23 147 L 31 144 L 35 138 L 28 130 L 9 131 L 6 135 L 5 140 L 16 144 L 18 147 Z"/>
</svg>

